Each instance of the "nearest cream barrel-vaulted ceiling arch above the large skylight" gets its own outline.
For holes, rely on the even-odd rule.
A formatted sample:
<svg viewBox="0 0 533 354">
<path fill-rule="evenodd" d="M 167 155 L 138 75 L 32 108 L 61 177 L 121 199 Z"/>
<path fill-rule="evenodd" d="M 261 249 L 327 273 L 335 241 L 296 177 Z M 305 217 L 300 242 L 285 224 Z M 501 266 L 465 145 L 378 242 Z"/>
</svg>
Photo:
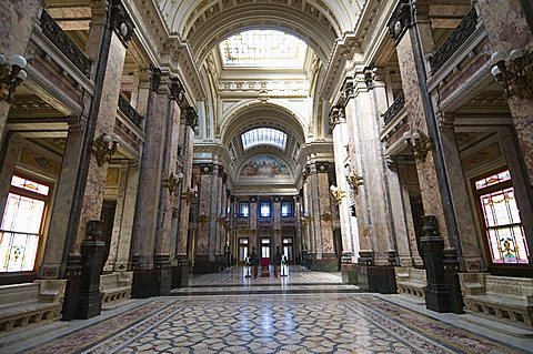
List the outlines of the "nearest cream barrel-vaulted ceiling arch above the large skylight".
<svg viewBox="0 0 533 354">
<path fill-rule="evenodd" d="M 334 41 L 352 31 L 366 0 L 158 0 L 171 32 L 203 62 L 221 40 L 248 29 L 299 37 L 328 61 Z"/>
</svg>

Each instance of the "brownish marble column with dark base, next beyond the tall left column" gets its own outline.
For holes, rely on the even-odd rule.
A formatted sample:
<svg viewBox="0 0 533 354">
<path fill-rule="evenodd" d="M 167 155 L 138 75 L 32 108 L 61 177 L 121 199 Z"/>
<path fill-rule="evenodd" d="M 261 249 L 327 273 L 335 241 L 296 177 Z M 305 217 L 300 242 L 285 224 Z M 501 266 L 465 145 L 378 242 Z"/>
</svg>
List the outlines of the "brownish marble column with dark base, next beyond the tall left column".
<svg viewBox="0 0 533 354">
<path fill-rule="evenodd" d="M 131 243 L 133 270 L 132 296 L 147 297 L 161 294 L 161 270 L 155 265 L 155 234 L 163 176 L 163 153 L 167 118 L 170 110 L 170 77 L 153 69 L 151 93 L 145 118 L 145 138 L 142 148 Z M 167 275 L 167 274 L 163 274 Z"/>
</svg>

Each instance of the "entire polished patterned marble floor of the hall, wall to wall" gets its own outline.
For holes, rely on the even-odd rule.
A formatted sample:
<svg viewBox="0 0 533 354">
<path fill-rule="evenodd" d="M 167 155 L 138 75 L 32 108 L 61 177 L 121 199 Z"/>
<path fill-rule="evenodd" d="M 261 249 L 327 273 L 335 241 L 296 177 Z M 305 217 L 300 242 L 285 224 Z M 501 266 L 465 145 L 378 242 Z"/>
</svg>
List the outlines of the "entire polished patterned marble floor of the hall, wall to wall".
<svg viewBox="0 0 533 354">
<path fill-rule="evenodd" d="M 400 295 L 363 293 L 342 284 L 339 273 L 300 266 L 286 279 L 245 279 L 242 269 L 230 269 L 195 276 L 170 295 L 128 300 L 87 321 L 52 323 L 0 352 L 489 354 L 533 347 L 532 338 L 491 333 L 453 314 L 430 317 Z"/>
</svg>

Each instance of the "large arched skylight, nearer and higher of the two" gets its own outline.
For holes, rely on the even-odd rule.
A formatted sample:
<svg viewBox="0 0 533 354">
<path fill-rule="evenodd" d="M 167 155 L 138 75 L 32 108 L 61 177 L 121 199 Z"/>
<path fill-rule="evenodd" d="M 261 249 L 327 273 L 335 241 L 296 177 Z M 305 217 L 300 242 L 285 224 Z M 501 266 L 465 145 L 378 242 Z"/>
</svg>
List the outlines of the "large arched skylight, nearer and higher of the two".
<svg viewBox="0 0 533 354">
<path fill-rule="evenodd" d="M 294 36 L 251 30 L 220 43 L 225 68 L 303 69 L 308 45 Z"/>
</svg>

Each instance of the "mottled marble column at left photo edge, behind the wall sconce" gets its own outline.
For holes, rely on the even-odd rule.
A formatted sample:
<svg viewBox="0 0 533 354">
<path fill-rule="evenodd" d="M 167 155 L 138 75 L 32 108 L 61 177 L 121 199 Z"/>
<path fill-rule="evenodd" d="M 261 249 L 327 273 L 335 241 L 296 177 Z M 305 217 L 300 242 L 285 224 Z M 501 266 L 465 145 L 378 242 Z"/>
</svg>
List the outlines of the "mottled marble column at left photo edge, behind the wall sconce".
<svg viewBox="0 0 533 354">
<path fill-rule="evenodd" d="M 0 1 L 0 54 L 9 61 L 13 54 L 24 55 L 33 22 L 43 7 L 41 0 Z M 11 103 L 0 99 L 0 145 Z"/>
</svg>

